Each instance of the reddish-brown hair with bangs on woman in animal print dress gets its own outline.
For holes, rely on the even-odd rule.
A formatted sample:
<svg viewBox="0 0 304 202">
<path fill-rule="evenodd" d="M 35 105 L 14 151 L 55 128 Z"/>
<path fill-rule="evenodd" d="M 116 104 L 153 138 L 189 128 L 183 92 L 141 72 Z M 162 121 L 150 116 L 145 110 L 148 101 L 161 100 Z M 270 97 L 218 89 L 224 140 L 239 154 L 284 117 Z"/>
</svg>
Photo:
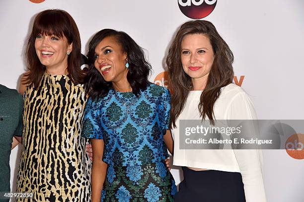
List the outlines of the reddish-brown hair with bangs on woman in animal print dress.
<svg viewBox="0 0 304 202">
<path fill-rule="evenodd" d="M 59 9 L 44 10 L 35 17 L 25 52 L 28 71 L 24 73 L 22 82 L 34 85 L 37 88 L 46 70 L 46 67 L 40 63 L 35 50 L 35 40 L 39 34 L 55 35 L 59 38 L 65 36 L 69 44 L 73 43 L 73 50 L 68 56 L 68 68 L 66 71 L 75 84 L 82 83 L 84 75 L 80 68 L 81 44 L 79 31 L 72 16 L 68 12 Z"/>
</svg>

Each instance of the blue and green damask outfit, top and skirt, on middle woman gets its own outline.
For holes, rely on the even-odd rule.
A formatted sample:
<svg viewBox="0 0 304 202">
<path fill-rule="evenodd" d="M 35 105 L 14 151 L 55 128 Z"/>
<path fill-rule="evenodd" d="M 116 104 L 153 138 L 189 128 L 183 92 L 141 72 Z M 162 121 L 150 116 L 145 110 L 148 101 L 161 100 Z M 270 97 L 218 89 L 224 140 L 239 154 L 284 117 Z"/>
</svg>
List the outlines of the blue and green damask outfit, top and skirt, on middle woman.
<svg viewBox="0 0 304 202">
<path fill-rule="evenodd" d="M 165 166 L 170 93 L 149 84 L 141 95 L 110 89 L 87 101 L 82 136 L 103 139 L 108 164 L 101 201 L 170 202 L 175 181 Z"/>
</svg>

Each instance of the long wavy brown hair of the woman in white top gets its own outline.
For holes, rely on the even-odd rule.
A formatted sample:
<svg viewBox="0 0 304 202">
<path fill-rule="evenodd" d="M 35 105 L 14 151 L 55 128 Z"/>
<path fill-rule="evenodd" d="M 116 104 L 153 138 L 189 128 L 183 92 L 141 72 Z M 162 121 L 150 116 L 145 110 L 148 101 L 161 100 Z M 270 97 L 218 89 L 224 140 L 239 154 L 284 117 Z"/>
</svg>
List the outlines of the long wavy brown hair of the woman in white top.
<svg viewBox="0 0 304 202">
<path fill-rule="evenodd" d="M 207 36 L 215 55 L 206 87 L 201 94 L 198 105 L 202 120 L 206 119 L 207 116 L 211 124 L 214 125 L 214 104 L 221 94 L 221 88 L 232 83 L 233 79 L 232 51 L 215 26 L 206 20 L 193 20 L 181 25 L 166 58 L 168 87 L 172 92 L 171 128 L 176 128 L 176 119 L 183 111 L 189 91 L 193 90 L 191 78 L 184 72 L 181 63 L 181 42 L 183 37 L 188 34 L 203 34 Z"/>
</svg>

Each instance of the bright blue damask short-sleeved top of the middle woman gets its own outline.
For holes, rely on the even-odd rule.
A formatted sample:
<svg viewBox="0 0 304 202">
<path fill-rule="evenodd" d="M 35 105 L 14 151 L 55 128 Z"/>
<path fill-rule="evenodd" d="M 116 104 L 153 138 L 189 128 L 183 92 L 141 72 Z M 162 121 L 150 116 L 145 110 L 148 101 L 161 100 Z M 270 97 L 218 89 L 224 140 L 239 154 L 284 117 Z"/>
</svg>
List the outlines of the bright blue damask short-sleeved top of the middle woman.
<svg viewBox="0 0 304 202">
<path fill-rule="evenodd" d="M 163 135 L 169 128 L 170 93 L 149 84 L 136 97 L 110 89 L 85 107 L 82 136 L 103 139 L 103 161 L 113 166 L 161 162 L 168 157 Z"/>
</svg>

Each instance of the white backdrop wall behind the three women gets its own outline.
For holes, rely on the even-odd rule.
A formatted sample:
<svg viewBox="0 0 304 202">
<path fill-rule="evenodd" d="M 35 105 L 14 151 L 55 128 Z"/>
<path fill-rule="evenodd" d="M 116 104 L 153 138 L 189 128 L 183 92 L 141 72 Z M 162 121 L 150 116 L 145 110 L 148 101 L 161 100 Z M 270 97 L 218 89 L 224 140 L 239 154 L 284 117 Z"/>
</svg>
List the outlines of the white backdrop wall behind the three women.
<svg viewBox="0 0 304 202">
<path fill-rule="evenodd" d="M 0 0 L 1 84 L 17 88 L 34 16 L 47 8 L 64 9 L 73 16 L 84 55 L 97 31 L 127 32 L 147 50 L 154 70 L 151 81 L 164 71 L 173 34 L 189 20 L 177 0 Z M 235 75 L 238 80 L 244 76 L 241 86 L 251 96 L 259 119 L 304 120 L 303 10 L 303 0 L 218 0 L 204 18 L 214 23 L 233 51 Z M 157 80 L 166 84 L 165 79 Z M 20 146 L 11 154 L 12 191 L 19 152 Z M 268 201 L 304 202 L 304 159 L 294 159 L 285 150 L 263 152 Z M 180 171 L 173 169 L 172 174 L 179 183 Z"/>
</svg>

